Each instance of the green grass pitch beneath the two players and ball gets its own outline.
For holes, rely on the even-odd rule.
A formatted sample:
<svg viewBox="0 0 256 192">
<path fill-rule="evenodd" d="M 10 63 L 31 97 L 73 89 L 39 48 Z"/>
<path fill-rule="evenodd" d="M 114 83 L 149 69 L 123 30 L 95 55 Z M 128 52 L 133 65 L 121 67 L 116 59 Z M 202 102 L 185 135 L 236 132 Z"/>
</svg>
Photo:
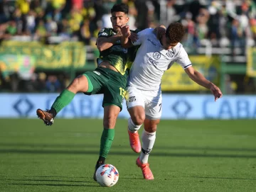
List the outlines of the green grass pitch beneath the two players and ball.
<svg viewBox="0 0 256 192">
<path fill-rule="evenodd" d="M 102 120 L 0 119 L 0 191 L 256 191 L 256 120 L 162 120 L 145 181 L 118 119 L 111 188 L 92 180 L 101 132 Z"/>
</svg>

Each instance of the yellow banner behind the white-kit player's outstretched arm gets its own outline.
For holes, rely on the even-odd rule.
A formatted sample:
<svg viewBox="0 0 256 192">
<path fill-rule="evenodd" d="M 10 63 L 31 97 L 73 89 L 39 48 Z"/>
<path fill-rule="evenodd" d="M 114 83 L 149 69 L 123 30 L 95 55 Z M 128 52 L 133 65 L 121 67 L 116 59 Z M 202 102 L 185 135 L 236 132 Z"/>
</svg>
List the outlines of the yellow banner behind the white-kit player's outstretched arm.
<svg viewBox="0 0 256 192">
<path fill-rule="evenodd" d="M 207 57 L 203 55 L 190 55 L 189 59 L 194 69 L 201 72 L 206 79 L 213 81 L 214 84 L 219 84 L 220 58 L 218 56 Z M 204 90 L 204 88 L 190 79 L 184 69 L 175 63 L 164 73 L 161 81 L 161 90 L 200 91 Z"/>
</svg>

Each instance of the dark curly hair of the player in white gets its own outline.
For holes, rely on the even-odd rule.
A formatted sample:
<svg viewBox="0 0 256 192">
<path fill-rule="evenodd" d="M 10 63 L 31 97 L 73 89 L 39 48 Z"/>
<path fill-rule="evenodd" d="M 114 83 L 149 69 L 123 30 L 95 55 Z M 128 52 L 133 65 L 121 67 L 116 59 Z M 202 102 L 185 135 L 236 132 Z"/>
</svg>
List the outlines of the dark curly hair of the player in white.
<svg viewBox="0 0 256 192">
<path fill-rule="evenodd" d="M 169 38 L 170 43 L 181 42 L 185 34 L 185 29 L 181 23 L 171 23 L 166 29 L 166 38 Z"/>
</svg>

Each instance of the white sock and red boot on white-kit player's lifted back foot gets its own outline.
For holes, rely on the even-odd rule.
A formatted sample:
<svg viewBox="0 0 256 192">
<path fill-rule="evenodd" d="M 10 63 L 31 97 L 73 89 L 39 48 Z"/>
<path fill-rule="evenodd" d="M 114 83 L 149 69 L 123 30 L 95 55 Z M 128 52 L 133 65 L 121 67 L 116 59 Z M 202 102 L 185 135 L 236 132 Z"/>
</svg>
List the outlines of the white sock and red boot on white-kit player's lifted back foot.
<svg viewBox="0 0 256 192">
<path fill-rule="evenodd" d="M 132 121 L 132 118 L 128 119 L 128 135 L 129 135 L 129 143 L 134 152 L 141 152 L 142 145 L 139 140 L 139 128 L 142 125 L 135 125 Z"/>
</svg>

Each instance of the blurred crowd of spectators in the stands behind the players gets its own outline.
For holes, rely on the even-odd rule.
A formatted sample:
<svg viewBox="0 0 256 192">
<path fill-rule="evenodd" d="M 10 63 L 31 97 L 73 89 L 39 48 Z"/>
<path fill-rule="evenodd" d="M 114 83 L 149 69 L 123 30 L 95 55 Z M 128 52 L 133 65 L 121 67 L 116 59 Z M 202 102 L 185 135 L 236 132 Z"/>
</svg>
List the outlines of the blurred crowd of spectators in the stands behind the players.
<svg viewBox="0 0 256 192">
<path fill-rule="evenodd" d="M 209 43 L 245 50 L 243 47 L 256 42 L 256 4 L 252 0 L 0 0 L 0 42 L 33 40 L 54 44 L 68 40 L 95 46 L 98 31 L 112 27 L 110 9 L 121 2 L 129 5 L 131 29 L 181 22 L 187 32 L 183 45 L 192 50 Z M 50 84 L 57 79 L 55 86 L 29 90 L 59 91 L 64 81 L 53 76 L 46 73 L 43 81 Z M 36 81 L 41 82 L 39 77 L 42 74 L 36 72 Z"/>
</svg>

